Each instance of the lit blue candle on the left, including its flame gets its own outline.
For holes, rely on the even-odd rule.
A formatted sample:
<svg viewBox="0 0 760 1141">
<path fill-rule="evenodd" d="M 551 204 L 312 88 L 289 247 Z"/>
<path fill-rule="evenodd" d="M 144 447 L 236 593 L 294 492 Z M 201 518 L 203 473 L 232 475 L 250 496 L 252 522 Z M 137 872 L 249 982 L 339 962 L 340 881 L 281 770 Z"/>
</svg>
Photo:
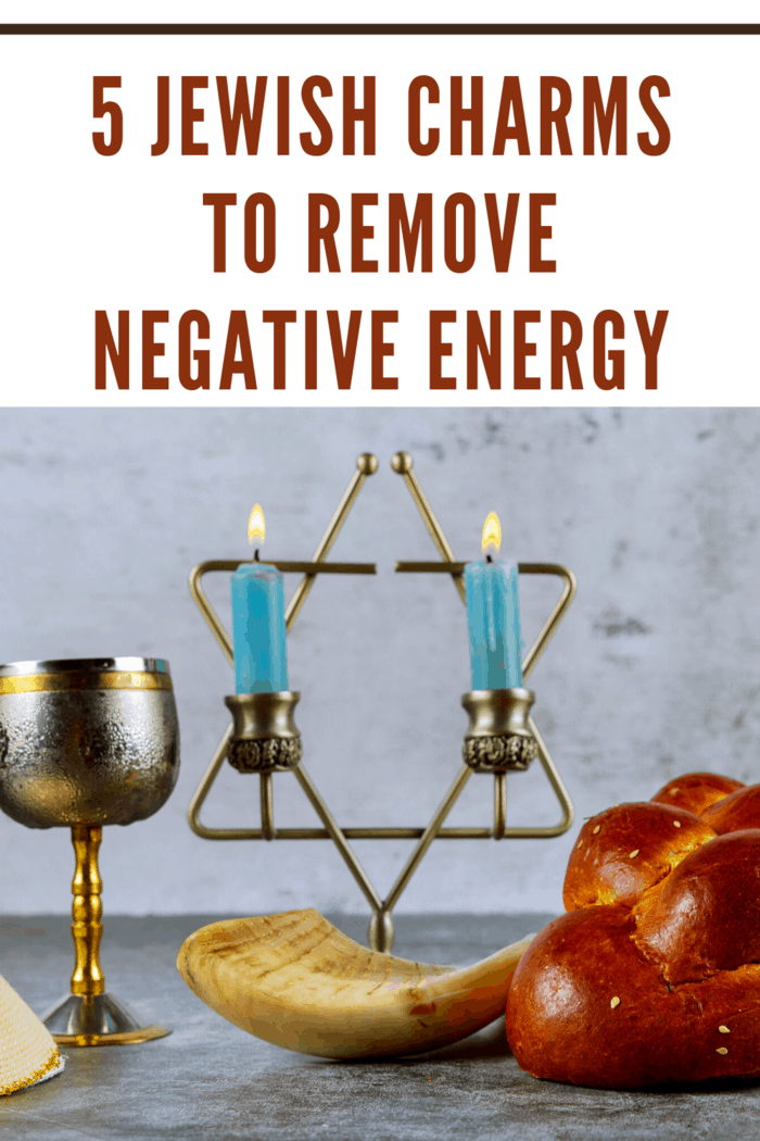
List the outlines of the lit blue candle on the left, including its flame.
<svg viewBox="0 0 760 1141">
<path fill-rule="evenodd" d="M 253 533 L 263 542 L 263 512 L 256 504 L 248 536 Z M 245 563 L 232 575 L 231 590 L 235 691 L 281 693 L 287 689 L 283 575 L 267 563 Z"/>
</svg>

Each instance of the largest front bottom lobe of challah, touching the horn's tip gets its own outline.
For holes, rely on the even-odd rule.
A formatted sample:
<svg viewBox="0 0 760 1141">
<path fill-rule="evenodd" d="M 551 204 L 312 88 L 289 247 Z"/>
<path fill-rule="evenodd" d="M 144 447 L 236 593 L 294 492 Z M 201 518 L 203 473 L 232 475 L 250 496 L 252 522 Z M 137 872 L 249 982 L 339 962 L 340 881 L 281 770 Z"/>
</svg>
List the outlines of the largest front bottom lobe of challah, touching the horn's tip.
<svg viewBox="0 0 760 1141">
<path fill-rule="evenodd" d="M 570 912 L 537 936 L 507 1001 L 522 1068 L 618 1090 L 758 1076 L 760 966 L 669 988 L 632 930 L 618 904 Z"/>
</svg>

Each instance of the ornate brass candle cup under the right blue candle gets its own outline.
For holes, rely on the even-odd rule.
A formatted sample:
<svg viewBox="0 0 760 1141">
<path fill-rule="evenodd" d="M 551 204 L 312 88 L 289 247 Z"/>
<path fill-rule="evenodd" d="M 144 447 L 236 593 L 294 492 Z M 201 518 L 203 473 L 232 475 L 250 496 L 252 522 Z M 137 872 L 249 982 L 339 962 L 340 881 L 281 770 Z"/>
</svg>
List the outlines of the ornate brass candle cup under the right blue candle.
<svg viewBox="0 0 760 1141">
<path fill-rule="evenodd" d="M 531 689 L 475 689 L 461 704 L 469 714 L 463 748 L 475 772 L 510 772 L 528 768 L 538 745 L 529 728 L 536 695 Z"/>
</svg>

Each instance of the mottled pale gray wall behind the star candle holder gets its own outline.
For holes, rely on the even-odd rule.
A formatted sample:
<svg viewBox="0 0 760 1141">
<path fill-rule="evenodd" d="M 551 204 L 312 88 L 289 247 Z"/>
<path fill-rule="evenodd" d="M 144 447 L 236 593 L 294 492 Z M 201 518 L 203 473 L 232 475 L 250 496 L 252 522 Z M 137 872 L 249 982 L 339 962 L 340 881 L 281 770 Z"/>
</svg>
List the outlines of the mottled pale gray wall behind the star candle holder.
<svg viewBox="0 0 760 1141">
<path fill-rule="evenodd" d="M 310 557 L 365 450 L 381 468 L 334 557 L 375 560 L 378 576 L 322 578 L 289 641 L 304 763 L 341 823 L 424 824 L 460 763 L 464 608 L 444 577 L 393 574 L 398 558 L 435 557 L 390 469 L 398 448 L 459 558 L 477 557 L 495 509 L 507 551 L 578 575 L 531 679 L 577 820 L 690 769 L 757 780 L 759 445 L 758 410 L 5 410 L 0 658 L 156 655 L 174 675 L 180 780 L 150 820 L 106 830 L 106 909 L 365 908 L 332 845 L 211 843 L 185 818 L 234 688 L 188 572 L 246 557 L 254 500 L 269 553 Z M 523 578 L 526 640 L 557 589 Z M 227 616 L 227 578 L 210 592 Z M 509 823 L 557 817 L 538 768 L 508 785 Z M 473 778 L 452 823 L 488 823 L 490 786 Z M 276 777 L 276 809 L 283 826 L 313 820 L 291 777 Z M 205 819 L 255 826 L 258 782 L 226 767 Z M 558 909 L 578 826 L 550 841 L 440 842 L 401 907 Z M 384 893 L 409 845 L 357 848 Z M 63 831 L 3 817 L 0 856 L 3 911 L 67 911 Z"/>
</svg>

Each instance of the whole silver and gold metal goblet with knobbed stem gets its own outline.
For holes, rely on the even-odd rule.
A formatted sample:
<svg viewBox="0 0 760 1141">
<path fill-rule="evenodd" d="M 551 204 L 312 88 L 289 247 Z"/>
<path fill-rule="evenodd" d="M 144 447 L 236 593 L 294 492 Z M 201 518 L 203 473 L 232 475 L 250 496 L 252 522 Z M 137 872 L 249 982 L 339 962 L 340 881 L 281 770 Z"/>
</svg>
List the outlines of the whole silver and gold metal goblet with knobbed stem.
<svg viewBox="0 0 760 1141">
<path fill-rule="evenodd" d="M 76 856 L 71 994 L 44 1018 L 59 1043 L 109 1045 L 171 1033 L 140 1026 L 105 994 L 98 848 L 103 825 L 156 812 L 178 770 L 167 662 L 106 657 L 0 666 L 0 808 L 30 828 L 71 827 Z"/>
</svg>

